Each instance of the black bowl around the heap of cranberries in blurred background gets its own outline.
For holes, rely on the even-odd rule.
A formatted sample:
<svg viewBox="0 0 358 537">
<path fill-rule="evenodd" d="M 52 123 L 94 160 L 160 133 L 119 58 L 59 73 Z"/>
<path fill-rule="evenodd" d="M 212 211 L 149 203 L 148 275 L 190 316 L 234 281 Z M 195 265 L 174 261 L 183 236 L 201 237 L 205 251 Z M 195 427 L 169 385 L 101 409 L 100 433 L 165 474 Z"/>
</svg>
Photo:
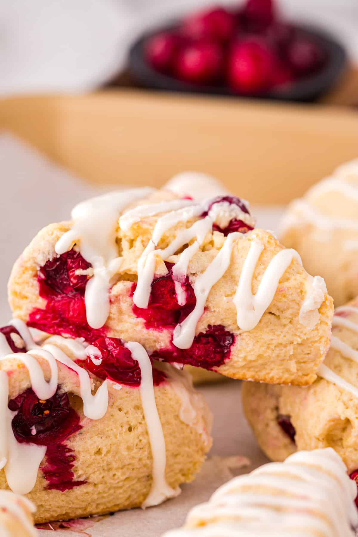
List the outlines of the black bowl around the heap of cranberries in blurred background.
<svg viewBox="0 0 358 537">
<path fill-rule="evenodd" d="M 299 79 L 289 86 L 275 88 L 264 93 L 255 95 L 241 94 L 234 92 L 224 86 L 192 84 L 182 82 L 174 77 L 165 75 L 155 70 L 147 61 L 144 53 L 145 42 L 158 32 L 172 30 L 173 26 L 159 28 L 156 31 L 144 34 L 130 48 L 129 52 L 129 72 L 134 81 L 144 88 L 151 88 L 164 91 L 180 91 L 189 93 L 204 93 L 206 95 L 222 95 L 228 97 L 254 97 L 260 99 L 275 99 L 288 101 L 309 102 L 316 100 L 323 93 L 328 91 L 340 78 L 347 66 L 347 54 L 345 49 L 335 41 L 330 35 L 313 27 L 299 26 L 305 34 L 322 47 L 326 55 L 324 66 L 305 78 Z"/>
</svg>

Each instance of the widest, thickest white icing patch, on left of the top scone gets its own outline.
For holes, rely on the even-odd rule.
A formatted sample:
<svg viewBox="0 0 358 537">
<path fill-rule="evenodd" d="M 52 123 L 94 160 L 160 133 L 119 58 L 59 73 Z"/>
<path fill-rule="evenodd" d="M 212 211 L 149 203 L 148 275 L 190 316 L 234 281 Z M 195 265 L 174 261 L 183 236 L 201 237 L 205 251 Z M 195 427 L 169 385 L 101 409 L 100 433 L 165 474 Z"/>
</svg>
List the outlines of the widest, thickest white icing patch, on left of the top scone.
<svg viewBox="0 0 358 537">
<path fill-rule="evenodd" d="M 74 225 L 57 241 L 55 251 L 61 255 L 78 243 L 79 251 L 93 267 L 85 291 L 87 323 L 101 328 L 109 314 L 109 281 L 113 276 L 111 262 L 118 257 L 115 233 L 119 213 L 131 202 L 145 198 L 152 188 L 111 192 L 92 198 L 72 209 Z"/>
</svg>

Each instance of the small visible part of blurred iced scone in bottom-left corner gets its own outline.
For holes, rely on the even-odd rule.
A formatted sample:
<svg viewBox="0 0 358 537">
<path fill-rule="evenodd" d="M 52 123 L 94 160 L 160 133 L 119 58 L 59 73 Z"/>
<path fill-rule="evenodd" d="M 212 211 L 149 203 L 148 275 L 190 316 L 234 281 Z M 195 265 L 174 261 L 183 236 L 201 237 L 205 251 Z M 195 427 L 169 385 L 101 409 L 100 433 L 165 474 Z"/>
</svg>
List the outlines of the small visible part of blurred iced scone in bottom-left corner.
<svg viewBox="0 0 358 537">
<path fill-rule="evenodd" d="M 1 537 L 36 537 L 33 513 L 36 508 L 30 500 L 0 490 L 0 535 Z"/>
</svg>

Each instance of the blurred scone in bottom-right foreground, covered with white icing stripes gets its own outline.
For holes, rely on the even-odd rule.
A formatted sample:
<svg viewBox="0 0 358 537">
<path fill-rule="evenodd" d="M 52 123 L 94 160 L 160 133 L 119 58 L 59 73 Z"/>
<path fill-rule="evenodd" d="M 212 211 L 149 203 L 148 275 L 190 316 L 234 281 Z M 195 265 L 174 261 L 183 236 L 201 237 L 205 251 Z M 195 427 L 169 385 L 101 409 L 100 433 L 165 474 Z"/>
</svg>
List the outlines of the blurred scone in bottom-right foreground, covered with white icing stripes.
<svg viewBox="0 0 358 537">
<path fill-rule="evenodd" d="M 220 487 L 163 537 L 354 537 L 357 488 L 331 448 L 301 451 Z"/>
</svg>

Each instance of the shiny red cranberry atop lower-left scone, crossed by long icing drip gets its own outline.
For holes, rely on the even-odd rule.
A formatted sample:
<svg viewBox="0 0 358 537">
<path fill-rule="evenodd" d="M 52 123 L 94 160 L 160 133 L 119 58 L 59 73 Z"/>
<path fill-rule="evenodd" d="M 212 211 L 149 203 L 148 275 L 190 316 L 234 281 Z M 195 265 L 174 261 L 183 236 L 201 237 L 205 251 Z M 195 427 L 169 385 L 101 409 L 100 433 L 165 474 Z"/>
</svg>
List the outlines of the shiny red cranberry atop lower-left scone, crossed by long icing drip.
<svg viewBox="0 0 358 537">
<path fill-rule="evenodd" d="M 137 360 L 131 357 L 121 339 L 101 337 L 93 345 L 101 353 L 101 363 L 96 365 L 90 357 L 86 360 L 86 368 L 100 379 L 110 379 L 128 386 L 138 387 L 141 384 L 141 369 Z M 97 357 L 96 357 L 97 358 Z M 158 386 L 166 379 L 165 374 L 153 369 L 153 383 Z"/>
</svg>

